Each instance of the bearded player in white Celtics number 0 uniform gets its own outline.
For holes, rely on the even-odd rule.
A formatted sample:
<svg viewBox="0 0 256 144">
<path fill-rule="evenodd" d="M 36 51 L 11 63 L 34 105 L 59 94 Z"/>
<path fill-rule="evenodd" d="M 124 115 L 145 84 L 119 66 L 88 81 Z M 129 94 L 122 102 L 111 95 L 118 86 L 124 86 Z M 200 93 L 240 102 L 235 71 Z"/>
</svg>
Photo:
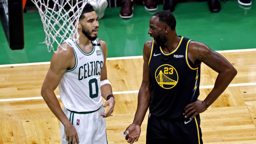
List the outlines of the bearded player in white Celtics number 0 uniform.
<svg viewBox="0 0 256 144">
<path fill-rule="evenodd" d="M 97 38 L 98 16 L 90 4 L 74 24 L 79 43 L 68 38 L 62 43 L 67 49 L 53 54 L 41 95 L 61 122 L 62 144 L 107 144 L 106 117 L 115 104 L 107 80 L 107 46 Z M 58 85 L 63 110 L 54 94 Z M 103 106 L 101 96 L 107 100 Z"/>
</svg>

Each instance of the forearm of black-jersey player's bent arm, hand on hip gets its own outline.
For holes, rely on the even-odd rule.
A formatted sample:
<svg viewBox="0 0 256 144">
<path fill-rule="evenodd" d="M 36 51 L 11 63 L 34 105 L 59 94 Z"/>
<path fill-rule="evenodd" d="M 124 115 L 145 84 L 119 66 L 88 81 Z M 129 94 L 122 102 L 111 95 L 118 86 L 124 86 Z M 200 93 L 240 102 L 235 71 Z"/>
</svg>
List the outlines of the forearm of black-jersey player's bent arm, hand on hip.
<svg viewBox="0 0 256 144">
<path fill-rule="evenodd" d="M 228 70 L 224 73 L 219 73 L 215 81 L 212 91 L 205 98 L 207 107 L 212 105 L 212 103 L 223 93 L 223 91 L 228 87 L 230 82 L 234 79 L 237 71 L 235 69 Z"/>
</svg>

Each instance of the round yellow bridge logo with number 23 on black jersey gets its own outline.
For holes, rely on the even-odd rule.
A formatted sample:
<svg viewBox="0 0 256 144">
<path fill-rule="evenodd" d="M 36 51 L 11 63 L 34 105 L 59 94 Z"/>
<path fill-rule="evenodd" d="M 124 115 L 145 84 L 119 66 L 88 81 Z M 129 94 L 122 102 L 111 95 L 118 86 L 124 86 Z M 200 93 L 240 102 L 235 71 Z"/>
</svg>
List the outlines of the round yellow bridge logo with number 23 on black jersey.
<svg viewBox="0 0 256 144">
<path fill-rule="evenodd" d="M 155 78 L 162 88 L 171 89 L 178 82 L 178 73 L 173 66 L 163 64 L 156 69 Z"/>
</svg>

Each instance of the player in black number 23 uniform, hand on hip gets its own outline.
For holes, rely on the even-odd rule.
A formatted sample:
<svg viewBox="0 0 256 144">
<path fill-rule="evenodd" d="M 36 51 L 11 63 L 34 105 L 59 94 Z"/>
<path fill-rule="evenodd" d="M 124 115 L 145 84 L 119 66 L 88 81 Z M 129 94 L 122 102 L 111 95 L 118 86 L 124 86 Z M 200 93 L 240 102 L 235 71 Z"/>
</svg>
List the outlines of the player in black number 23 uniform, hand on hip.
<svg viewBox="0 0 256 144">
<path fill-rule="evenodd" d="M 146 144 L 202 144 L 199 113 L 226 89 L 237 71 L 206 44 L 176 34 L 176 20 L 168 11 L 156 12 L 149 21 L 150 37 L 143 49 L 143 81 L 127 142 L 138 141 L 149 107 Z M 198 100 L 200 65 L 219 74 L 214 88 Z M 124 132 L 126 134 L 126 132 Z"/>
</svg>

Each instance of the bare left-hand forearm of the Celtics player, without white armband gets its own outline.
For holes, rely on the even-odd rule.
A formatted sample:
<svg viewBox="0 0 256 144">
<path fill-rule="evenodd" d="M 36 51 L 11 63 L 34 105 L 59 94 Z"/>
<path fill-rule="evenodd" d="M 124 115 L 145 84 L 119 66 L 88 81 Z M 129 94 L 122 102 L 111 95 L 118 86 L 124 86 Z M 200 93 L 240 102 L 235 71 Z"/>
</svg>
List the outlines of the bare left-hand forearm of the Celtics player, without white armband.
<svg viewBox="0 0 256 144">
<path fill-rule="evenodd" d="M 62 111 L 59 101 L 53 91 L 42 90 L 41 95 L 46 104 L 48 105 L 48 107 L 50 108 L 50 110 L 59 119 L 59 121 L 62 122 L 64 126 L 71 124 L 69 119 Z"/>
</svg>

